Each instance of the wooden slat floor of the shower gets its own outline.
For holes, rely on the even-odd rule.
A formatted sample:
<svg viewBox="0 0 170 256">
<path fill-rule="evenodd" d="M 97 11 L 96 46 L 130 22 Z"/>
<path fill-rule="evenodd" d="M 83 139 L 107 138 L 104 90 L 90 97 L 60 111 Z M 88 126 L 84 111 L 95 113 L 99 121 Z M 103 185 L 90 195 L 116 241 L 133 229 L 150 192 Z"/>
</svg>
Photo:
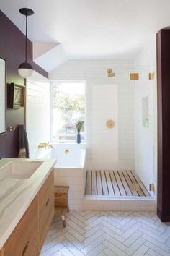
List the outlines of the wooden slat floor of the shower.
<svg viewBox="0 0 170 256">
<path fill-rule="evenodd" d="M 151 197 L 135 171 L 87 171 L 86 195 Z"/>
</svg>

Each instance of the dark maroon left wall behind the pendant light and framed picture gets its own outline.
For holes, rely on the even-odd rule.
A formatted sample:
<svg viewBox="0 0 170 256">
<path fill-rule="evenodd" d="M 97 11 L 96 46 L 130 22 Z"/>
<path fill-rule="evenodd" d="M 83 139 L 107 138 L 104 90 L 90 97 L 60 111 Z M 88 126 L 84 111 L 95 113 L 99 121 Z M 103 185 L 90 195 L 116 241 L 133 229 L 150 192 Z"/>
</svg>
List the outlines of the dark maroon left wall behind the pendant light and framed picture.
<svg viewBox="0 0 170 256">
<path fill-rule="evenodd" d="M 24 79 L 19 77 L 17 68 L 24 62 L 24 34 L 0 10 L 0 57 L 6 59 L 6 82 L 24 85 Z M 34 69 L 45 77 L 48 73 L 32 62 L 32 43 L 29 41 L 28 61 Z M 17 127 L 24 124 L 25 109 L 7 109 L 7 127 Z M 0 135 L 0 158 L 16 158 L 18 155 L 18 129 Z"/>
</svg>

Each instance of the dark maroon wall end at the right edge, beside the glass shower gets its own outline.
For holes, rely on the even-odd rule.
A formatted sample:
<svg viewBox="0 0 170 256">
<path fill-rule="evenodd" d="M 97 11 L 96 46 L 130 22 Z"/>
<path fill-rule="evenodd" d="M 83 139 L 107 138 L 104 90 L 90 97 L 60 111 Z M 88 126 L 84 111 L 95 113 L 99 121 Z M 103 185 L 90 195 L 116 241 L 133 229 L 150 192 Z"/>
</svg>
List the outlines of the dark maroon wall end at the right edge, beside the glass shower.
<svg viewBox="0 0 170 256">
<path fill-rule="evenodd" d="M 170 221 L 170 30 L 157 34 L 158 75 L 158 209 Z"/>
</svg>

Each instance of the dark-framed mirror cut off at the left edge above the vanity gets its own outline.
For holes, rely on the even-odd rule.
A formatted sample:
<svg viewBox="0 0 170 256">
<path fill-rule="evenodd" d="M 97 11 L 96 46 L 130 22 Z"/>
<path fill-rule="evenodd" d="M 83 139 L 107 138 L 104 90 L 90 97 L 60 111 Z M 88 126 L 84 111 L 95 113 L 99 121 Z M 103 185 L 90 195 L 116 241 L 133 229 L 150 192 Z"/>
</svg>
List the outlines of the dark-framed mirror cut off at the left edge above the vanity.
<svg viewBox="0 0 170 256">
<path fill-rule="evenodd" d="M 6 61 L 0 58 L 0 134 L 6 132 Z"/>
</svg>

